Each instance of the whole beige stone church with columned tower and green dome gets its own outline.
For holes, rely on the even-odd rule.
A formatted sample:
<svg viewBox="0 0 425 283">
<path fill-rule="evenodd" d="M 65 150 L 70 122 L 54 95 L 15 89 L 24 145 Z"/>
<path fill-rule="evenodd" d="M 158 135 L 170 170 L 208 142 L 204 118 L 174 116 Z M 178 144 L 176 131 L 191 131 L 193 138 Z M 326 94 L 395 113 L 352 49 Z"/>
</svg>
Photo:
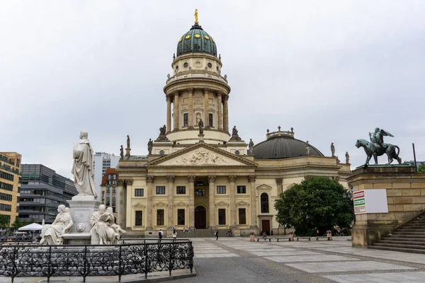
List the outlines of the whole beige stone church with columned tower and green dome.
<svg viewBox="0 0 425 283">
<path fill-rule="evenodd" d="M 118 167 L 118 224 L 130 235 L 189 228 L 210 236 L 285 233 L 274 201 L 312 175 L 347 187 L 350 165 L 326 157 L 293 129 L 267 131 L 256 146 L 229 129 L 232 97 L 215 39 L 196 23 L 177 43 L 164 86 L 166 125 L 147 156 L 123 154 Z"/>
</svg>

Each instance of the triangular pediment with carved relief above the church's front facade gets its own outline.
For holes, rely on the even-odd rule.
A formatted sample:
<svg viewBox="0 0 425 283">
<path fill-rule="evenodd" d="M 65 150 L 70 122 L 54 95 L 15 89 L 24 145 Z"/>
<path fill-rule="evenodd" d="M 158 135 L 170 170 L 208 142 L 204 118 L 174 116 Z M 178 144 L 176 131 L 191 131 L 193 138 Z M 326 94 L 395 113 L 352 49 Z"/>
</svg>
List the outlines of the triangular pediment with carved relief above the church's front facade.
<svg viewBox="0 0 425 283">
<path fill-rule="evenodd" d="M 145 166 L 256 166 L 256 163 L 205 143 L 181 149 Z"/>
</svg>

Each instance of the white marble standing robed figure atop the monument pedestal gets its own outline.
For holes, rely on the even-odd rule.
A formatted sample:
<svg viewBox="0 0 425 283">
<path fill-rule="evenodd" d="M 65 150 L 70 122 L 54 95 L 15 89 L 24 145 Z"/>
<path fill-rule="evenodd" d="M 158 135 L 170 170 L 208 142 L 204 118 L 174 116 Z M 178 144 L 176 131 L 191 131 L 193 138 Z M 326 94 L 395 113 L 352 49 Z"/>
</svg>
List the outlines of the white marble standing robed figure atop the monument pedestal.
<svg viewBox="0 0 425 283">
<path fill-rule="evenodd" d="M 80 141 L 74 144 L 74 164 L 71 173 L 74 175 L 74 185 L 79 192 L 79 196 L 97 197 L 96 187 L 94 186 L 93 154 L 89 142 L 89 134 L 85 131 L 80 132 Z"/>
</svg>

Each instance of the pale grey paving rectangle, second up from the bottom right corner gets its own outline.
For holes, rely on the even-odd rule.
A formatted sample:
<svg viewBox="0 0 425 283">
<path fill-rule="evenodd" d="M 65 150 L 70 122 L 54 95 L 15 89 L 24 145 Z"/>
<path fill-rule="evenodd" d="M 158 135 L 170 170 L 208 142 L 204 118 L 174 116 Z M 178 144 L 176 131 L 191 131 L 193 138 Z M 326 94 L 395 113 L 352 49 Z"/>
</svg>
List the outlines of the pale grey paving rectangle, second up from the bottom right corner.
<svg viewBox="0 0 425 283">
<path fill-rule="evenodd" d="M 309 273 L 325 272 L 353 272 L 353 271 L 375 271 L 375 270 L 414 270 L 414 267 L 402 265 L 392 265 L 377 261 L 357 261 L 357 262 L 307 262 L 287 264 Z"/>
</svg>

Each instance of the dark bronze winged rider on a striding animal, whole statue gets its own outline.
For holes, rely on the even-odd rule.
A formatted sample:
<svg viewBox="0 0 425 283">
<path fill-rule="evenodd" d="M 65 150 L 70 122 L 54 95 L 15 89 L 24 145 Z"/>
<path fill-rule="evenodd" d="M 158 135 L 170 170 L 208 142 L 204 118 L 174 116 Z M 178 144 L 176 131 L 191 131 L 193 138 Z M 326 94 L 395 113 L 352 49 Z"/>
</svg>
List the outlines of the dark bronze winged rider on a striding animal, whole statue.
<svg viewBox="0 0 425 283">
<path fill-rule="evenodd" d="M 387 154 L 388 156 L 388 163 L 386 163 L 387 165 L 391 164 L 394 159 L 397 159 L 398 163 L 402 163 L 402 158 L 399 158 L 399 147 L 395 146 L 394 144 L 385 144 L 384 136 L 394 137 L 392 134 L 383 129 L 375 128 L 375 132 L 369 133 L 370 141 L 366 141 L 365 139 L 358 139 L 356 141 L 357 148 L 362 146 L 363 149 L 365 149 L 366 155 L 368 156 L 366 158 L 365 166 L 368 166 L 372 156 L 375 159 L 375 165 L 378 165 L 378 156 L 382 156 L 383 154 Z"/>
</svg>

